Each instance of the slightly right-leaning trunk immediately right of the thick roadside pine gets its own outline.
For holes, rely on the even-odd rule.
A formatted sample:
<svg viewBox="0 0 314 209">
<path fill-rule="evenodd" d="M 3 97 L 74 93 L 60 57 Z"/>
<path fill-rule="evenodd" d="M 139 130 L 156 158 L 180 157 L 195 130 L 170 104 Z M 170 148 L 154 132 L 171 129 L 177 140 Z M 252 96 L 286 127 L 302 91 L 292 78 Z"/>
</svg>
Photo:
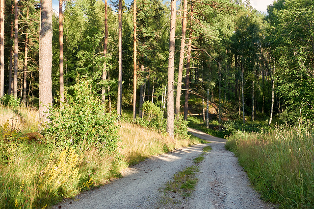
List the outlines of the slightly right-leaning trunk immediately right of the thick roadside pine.
<svg viewBox="0 0 314 209">
<path fill-rule="evenodd" d="M 177 119 L 179 119 L 180 102 L 181 102 L 182 72 L 183 72 L 183 60 L 184 60 L 184 52 L 185 52 L 185 31 L 186 31 L 186 19 L 187 19 L 186 14 L 187 14 L 187 0 L 184 0 L 183 21 L 182 21 L 182 39 L 181 39 L 178 85 L 177 85 L 177 95 L 176 95 L 176 111 L 175 111 Z"/>
</svg>

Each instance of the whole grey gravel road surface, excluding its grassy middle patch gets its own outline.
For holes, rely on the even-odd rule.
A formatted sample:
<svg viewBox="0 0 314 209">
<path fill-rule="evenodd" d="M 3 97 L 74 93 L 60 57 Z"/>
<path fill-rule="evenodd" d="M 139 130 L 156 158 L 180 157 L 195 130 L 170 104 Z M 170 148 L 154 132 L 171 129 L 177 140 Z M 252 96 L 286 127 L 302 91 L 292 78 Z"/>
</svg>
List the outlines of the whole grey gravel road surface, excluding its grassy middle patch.
<svg viewBox="0 0 314 209">
<path fill-rule="evenodd" d="M 250 186 L 247 174 L 235 155 L 224 148 L 225 139 L 189 128 L 194 136 L 210 141 L 154 156 L 123 171 L 123 178 L 73 199 L 53 209 L 274 209 Z M 166 191 L 173 175 L 194 165 L 203 148 L 212 150 L 198 163 L 198 183 L 189 197 Z M 171 200 L 171 201 L 169 201 Z"/>
</svg>

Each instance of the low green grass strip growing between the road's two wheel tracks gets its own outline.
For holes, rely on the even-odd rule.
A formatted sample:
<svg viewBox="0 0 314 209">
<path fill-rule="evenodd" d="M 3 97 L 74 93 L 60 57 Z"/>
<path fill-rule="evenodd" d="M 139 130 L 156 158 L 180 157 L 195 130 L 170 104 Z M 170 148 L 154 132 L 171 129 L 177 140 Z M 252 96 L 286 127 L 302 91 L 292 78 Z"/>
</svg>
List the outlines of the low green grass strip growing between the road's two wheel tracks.
<svg viewBox="0 0 314 209">
<path fill-rule="evenodd" d="M 209 142 L 206 141 L 206 143 Z M 172 180 L 165 184 L 165 187 L 162 189 L 164 194 L 160 200 L 162 207 L 172 208 L 174 204 L 180 203 L 178 198 L 173 196 L 174 193 L 179 194 L 181 197 L 183 197 L 183 199 L 191 196 L 191 193 L 198 182 L 196 177 L 196 173 L 199 172 L 198 164 L 204 160 L 204 156 L 210 150 L 211 146 L 204 147 L 203 152 L 193 160 L 194 165 L 185 167 L 182 171 L 178 171 L 173 175 Z"/>
</svg>

